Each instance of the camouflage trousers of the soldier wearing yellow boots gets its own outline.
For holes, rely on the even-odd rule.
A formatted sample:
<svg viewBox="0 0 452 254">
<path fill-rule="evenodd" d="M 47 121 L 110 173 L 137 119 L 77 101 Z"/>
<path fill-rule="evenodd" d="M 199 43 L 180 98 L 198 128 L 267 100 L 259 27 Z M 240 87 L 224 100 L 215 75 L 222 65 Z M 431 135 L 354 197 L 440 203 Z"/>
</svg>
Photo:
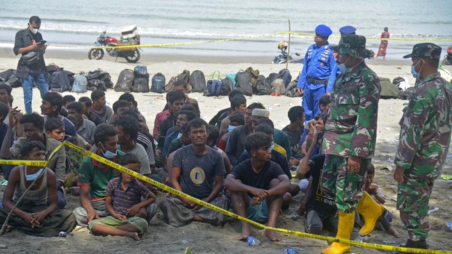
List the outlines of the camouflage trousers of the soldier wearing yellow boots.
<svg viewBox="0 0 452 254">
<path fill-rule="evenodd" d="M 355 212 L 358 201 L 362 198 L 366 183 L 367 165 L 371 159 L 361 159 L 358 173 L 347 172 L 348 158 L 327 154 L 322 172 L 322 189 L 334 196 L 337 209 L 341 212 Z"/>
</svg>

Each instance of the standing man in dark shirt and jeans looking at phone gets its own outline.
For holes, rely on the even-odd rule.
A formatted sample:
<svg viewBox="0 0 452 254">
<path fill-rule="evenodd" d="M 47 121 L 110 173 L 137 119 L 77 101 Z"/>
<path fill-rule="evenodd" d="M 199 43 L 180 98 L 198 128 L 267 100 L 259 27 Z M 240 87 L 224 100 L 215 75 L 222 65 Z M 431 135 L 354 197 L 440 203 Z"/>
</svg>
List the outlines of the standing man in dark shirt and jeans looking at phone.
<svg viewBox="0 0 452 254">
<path fill-rule="evenodd" d="M 47 45 L 38 32 L 40 26 L 41 19 L 38 16 L 30 17 L 29 27 L 16 33 L 13 49 L 16 56 L 22 54 L 17 64 L 16 76 L 22 80 L 26 114 L 33 112 L 33 82 L 38 85 L 41 96 L 49 91 L 49 74 L 44 62 Z"/>
</svg>

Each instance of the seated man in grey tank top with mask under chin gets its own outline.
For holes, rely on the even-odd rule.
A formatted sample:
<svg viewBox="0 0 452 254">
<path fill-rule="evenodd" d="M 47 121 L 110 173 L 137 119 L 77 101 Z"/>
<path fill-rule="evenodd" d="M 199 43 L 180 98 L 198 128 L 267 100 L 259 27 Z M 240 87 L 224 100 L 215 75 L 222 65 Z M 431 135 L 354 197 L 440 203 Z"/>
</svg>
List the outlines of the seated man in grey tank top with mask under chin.
<svg viewBox="0 0 452 254">
<path fill-rule="evenodd" d="M 45 160 L 45 146 L 39 141 L 22 145 L 20 153 L 24 160 Z M 25 190 L 35 180 L 35 186 Z M 75 217 L 70 210 L 58 210 L 55 173 L 48 167 L 19 165 L 10 173 L 0 208 L 0 224 L 3 224 L 15 203 L 24 194 L 10 217 L 9 228 L 17 227 L 29 235 L 57 237 L 60 231 L 70 232 L 75 226 Z M 50 203 L 47 205 L 47 199 Z M 1 205 L 0 205 L 1 207 Z"/>
</svg>

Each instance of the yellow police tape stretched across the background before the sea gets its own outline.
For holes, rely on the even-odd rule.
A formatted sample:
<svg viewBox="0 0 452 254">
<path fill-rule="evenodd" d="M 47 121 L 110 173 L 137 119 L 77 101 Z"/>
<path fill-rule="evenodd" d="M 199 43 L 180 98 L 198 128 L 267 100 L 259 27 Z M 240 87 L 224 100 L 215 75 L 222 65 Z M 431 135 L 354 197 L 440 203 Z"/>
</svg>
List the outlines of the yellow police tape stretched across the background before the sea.
<svg viewBox="0 0 452 254">
<path fill-rule="evenodd" d="M 230 39 L 218 39 L 218 40 L 205 40 L 200 42 L 175 42 L 175 43 L 162 43 L 162 44 L 140 44 L 140 45 L 127 45 L 127 46 L 92 46 L 90 49 L 135 49 L 135 48 L 157 48 L 162 46 L 181 46 L 181 45 L 192 45 L 192 44 L 204 44 L 204 43 L 212 43 L 212 42 L 231 42 L 236 40 L 249 40 L 258 37 L 268 37 L 273 35 L 300 35 L 307 37 L 314 37 L 314 34 L 310 33 L 295 33 L 289 31 L 283 31 L 278 33 L 268 33 L 264 35 L 252 35 L 247 37 L 238 37 L 238 38 L 230 38 Z M 330 37 L 340 38 L 341 36 L 331 35 Z M 398 40 L 398 41 L 428 41 L 428 42 L 452 42 L 452 39 L 404 39 L 404 38 L 378 38 L 378 37 L 366 37 L 366 40 Z"/>
</svg>

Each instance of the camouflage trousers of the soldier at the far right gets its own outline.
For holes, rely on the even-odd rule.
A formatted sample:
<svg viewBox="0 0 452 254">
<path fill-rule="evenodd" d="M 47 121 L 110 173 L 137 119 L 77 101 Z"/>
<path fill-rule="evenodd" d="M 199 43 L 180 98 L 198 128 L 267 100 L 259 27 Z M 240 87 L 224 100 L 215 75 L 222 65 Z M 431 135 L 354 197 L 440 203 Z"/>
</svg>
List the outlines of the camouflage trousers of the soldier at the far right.
<svg viewBox="0 0 452 254">
<path fill-rule="evenodd" d="M 398 184 L 397 210 L 400 211 L 403 227 L 413 241 L 425 240 L 430 230 L 428 200 L 432 194 L 435 178 L 412 178 L 406 176 Z"/>
</svg>

